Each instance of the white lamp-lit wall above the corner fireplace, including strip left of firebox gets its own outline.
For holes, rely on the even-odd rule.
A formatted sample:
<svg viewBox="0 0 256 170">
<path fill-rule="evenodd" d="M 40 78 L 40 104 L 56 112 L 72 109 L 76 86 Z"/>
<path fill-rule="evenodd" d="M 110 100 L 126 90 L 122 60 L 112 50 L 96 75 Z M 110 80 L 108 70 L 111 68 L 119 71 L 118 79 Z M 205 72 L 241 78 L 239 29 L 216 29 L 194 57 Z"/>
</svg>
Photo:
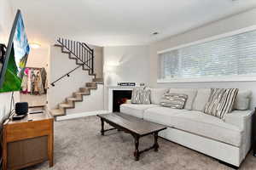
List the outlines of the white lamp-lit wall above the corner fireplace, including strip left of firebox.
<svg viewBox="0 0 256 170">
<path fill-rule="evenodd" d="M 104 109 L 108 110 L 108 86 L 117 82 L 149 82 L 148 46 L 104 47 Z"/>
</svg>

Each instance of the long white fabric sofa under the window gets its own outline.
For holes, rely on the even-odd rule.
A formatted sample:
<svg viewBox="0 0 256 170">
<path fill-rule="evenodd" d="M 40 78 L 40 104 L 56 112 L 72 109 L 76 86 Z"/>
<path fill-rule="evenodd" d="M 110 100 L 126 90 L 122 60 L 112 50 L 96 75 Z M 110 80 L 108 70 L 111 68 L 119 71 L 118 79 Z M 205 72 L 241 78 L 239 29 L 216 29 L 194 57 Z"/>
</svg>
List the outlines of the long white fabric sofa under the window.
<svg viewBox="0 0 256 170">
<path fill-rule="evenodd" d="M 183 110 L 160 106 L 166 88 L 151 89 L 151 105 L 124 104 L 120 112 L 167 126 L 160 136 L 207 156 L 239 167 L 251 148 L 253 111 L 248 110 L 251 93 L 238 93 L 234 110 L 219 119 L 203 113 L 211 89 L 172 88 L 189 96 Z"/>
</svg>

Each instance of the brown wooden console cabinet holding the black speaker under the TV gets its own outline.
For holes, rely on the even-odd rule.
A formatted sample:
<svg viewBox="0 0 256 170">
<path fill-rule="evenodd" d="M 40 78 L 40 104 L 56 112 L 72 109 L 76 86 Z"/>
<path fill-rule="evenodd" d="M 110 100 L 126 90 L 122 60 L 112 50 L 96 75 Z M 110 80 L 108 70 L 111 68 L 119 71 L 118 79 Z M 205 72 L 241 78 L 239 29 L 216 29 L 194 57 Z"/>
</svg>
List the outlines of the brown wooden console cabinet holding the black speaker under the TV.
<svg viewBox="0 0 256 170">
<path fill-rule="evenodd" d="M 54 119 L 48 111 L 3 123 L 3 170 L 49 160 L 53 166 Z"/>
</svg>

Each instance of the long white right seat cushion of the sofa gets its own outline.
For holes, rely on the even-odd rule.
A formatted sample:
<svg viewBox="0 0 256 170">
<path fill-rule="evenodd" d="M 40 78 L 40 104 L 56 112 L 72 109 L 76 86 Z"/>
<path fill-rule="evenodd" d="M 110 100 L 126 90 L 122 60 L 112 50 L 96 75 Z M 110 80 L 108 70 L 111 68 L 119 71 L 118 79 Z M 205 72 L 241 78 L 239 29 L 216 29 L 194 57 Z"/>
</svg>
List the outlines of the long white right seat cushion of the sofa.
<svg viewBox="0 0 256 170">
<path fill-rule="evenodd" d="M 177 128 L 185 132 L 201 135 L 208 139 L 241 146 L 243 130 L 226 123 L 215 116 L 201 111 L 186 111 L 166 107 L 154 107 L 145 111 L 144 119 Z"/>
</svg>

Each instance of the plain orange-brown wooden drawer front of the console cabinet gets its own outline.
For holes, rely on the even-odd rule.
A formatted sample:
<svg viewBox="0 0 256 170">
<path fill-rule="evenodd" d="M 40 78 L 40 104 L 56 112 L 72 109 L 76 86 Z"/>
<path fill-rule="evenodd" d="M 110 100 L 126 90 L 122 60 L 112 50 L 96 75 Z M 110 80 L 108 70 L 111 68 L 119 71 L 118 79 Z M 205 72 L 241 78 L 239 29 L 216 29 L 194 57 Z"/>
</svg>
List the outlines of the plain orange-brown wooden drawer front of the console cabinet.
<svg viewBox="0 0 256 170">
<path fill-rule="evenodd" d="M 9 124 L 5 129 L 6 142 L 22 139 L 30 139 L 38 136 L 48 135 L 52 132 L 53 120 L 20 122 Z"/>
</svg>

